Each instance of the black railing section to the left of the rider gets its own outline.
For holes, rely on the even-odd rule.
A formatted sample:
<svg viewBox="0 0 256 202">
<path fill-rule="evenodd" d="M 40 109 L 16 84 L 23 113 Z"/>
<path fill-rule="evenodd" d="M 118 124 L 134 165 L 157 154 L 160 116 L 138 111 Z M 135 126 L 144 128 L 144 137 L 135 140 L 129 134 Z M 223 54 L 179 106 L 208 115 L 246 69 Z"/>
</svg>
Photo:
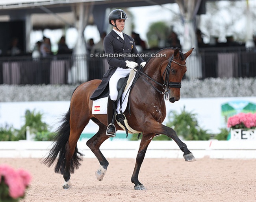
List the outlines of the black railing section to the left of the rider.
<svg viewBox="0 0 256 202">
<path fill-rule="evenodd" d="M 2 57 L 0 84 L 78 84 L 102 79 L 107 68 L 106 59 L 86 55 Z"/>
</svg>

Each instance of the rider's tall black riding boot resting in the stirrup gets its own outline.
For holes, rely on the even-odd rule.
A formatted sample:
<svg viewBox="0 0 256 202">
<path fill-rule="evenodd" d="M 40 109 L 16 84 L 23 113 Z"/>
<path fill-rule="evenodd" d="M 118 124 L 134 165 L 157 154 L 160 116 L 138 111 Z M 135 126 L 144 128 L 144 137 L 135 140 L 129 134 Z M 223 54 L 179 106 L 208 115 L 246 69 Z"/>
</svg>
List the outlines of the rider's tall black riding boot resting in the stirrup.
<svg viewBox="0 0 256 202">
<path fill-rule="evenodd" d="M 115 137 L 115 117 L 114 117 L 114 112 L 115 112 L 115 101 L 111 100 L 110 97 L 108 97 L 108 128 L 106 135 L 109 136 L 110 138 Z"/>
</svg>

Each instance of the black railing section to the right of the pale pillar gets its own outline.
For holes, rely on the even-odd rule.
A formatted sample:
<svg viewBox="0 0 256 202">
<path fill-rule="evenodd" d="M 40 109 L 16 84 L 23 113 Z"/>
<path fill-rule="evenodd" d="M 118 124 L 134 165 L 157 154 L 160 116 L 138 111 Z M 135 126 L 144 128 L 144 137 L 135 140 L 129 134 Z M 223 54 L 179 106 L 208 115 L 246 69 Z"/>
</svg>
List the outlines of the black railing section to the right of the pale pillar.
<svg viewBox="0 0 256 202">
<path fill-rule="evenodd" d="M 202 78 L 256 77 L 256 49 L 219 47 L 200 49 Z"/>
</svg>

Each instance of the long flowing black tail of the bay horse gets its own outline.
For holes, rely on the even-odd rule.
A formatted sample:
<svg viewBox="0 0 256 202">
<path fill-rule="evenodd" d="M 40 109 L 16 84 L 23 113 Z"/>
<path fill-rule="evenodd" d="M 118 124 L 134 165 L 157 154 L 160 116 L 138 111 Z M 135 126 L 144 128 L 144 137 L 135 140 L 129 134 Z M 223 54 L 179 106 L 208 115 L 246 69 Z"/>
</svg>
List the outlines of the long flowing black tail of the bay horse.
<svg viewBox="0 0 256 202">
<path fill-rule="evenodd" d="M 70 133 L 70 107 L 67 114 L 64 115 L 62 119 L 62 125 L 58 128 L 57 134 L 55 137 L 55 141 L 53 143 L 53 147 L 50 150 L 49 155 L 43 160 L 42 163 L 50 167 L 58 158 L 56 166 L 55 166 L 55 173 L 63 174 L 65 170 L 65 154 L 66 154 L 66 144 L 69 141 L 69 133 Z M 70 160 L 70 173 L 74 173 L 75 169 L 81 165 L 80 161 L 83 160 L 83 154 L 78 152 L 78 148 L 76 145 L 76 149 L 74 154 Z"/>
</svg>

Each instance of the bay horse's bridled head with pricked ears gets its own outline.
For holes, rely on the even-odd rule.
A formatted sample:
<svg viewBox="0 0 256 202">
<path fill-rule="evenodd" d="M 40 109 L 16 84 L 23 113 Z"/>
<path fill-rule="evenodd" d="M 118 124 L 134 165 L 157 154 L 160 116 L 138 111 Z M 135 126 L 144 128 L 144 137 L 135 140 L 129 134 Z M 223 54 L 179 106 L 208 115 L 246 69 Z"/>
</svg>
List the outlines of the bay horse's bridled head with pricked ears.
<svg viewBox="0 0 256 202">
<path fill-rule="evenodd" d="M 194 48 L 187 53 L 180 52 L 179 48 L 171 50 L 170 57 L 161 64 L 161 77 L 164 81 L 165 98 L 171 103 L 180 99 L 181 80 L 187 71 L 186 59 Z M 169 54 L 166 54 L 169 56 Z"/>
</svg>

